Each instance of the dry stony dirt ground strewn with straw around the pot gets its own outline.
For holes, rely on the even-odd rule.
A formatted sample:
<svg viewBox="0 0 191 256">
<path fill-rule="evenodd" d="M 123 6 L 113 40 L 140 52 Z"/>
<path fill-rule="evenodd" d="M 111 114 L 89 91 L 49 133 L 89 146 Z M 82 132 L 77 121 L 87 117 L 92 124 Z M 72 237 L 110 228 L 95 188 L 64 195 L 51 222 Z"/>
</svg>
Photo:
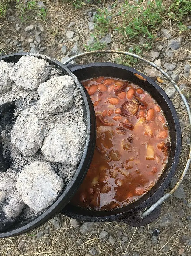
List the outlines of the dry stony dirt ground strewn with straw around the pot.
<svg viewBox="0 0 191 256">
<path fill-rule="evenodd" d="M 63 62 L 62 58 L 67 57 L 76 42 L 79 42 L 82 51 L 103 48 L 132 51 L 134 47 L 133 52 L 144 56 L 146 59 L 161 61 L 162 68 L 167 70 L 177 81 L 190 104 L 191 75 L 188 67 L 191 65 L 190 14 L 184 16 L 182 20 L 183 25 L 181 26 L 185 26 L 184 29 L 177 29 L 175 22 L 165 18 L 165 12 L 168 12 L 168 7 L 172 1 L 165 2 L 164 20 L 152 30 L 152 33 L 157 37 L 149 42 L 143 40 L 144 38 L 147 39 L 147 35 L 140 34 L 130 38 L 131 36 L 127 33 L 121 33 L 113 27 L 114 23 L 116 25 L 121 24 L 122 20 L 125 19 L 124 4 L 127 2 L 47 0 L 43 1 L 43 9 L 39 9 L 37 1 L 8 1 L 6 13 L 4 17 L 0 18 L 1 55 L 22 51 L 29 52 L 32 49 L 32 51 L 40 52 Z M 129 1 L 130 4 L 136 4 L 136 2 Z M 147 5 L 149 1 L 140 2 L 143 8 L 146 8 L 145 4 Z M 105 16 L 102 16 L 102 13 L 104 13 L 103 15 L 107 13 L 108 17 L 112 16 L 112 26 L 108 25 L 109 23 L 104 25 Z M 92 18 L 97 14 L 99 17 L 95 19 L 97 19 L 97 23 L 102 24 L 99 29 L 95 19 Z M 95 26 L 91 32 L 90 25 L 92 24 L 90 22 Z M 27 32 L 25 28 L 29 25 L 34 27 Z M 171 37 L 167 39 L 161 33 L 161 29 L 167 29 Z M 68 31 L 74 32 L 73 37 L 66 37 Z M 110 42 L 100 43 L 100 39 L 107 33 L 109 33 Z M 95 36 L 95 42 L 87 47 L 90 34 Z M 172 39 L 175 39 L 179 44 L 177 50 L 168 49 L 169 41 Z M 65 51 L 64 45 L 67 47 Z M 151 50 L 154 50 L 155 53 Z M 117 54 L 90 56 L 76 60 L 78 63 L 97 61 L 122 63 L 133 66 L 142 72 L 145 72 L 145 67 L 148 67 L 144 63 L 135 62 L 131 58 L 120 57 Z M 170 70 L 168 63 L 174 63 L 175 68 Z M 188 73 L 185 71 L 185 65 L 189 70 Z M 160 77 L 164 79 L 162 75 Z M 175 177 L 179 177 L 186 163 L 190 143 L 188 117 L 180 97 L 173 91 L 169 82 L 164 79 L 164 83 L 160 83 L 160 86 L 172 99 L 180 119 L 182 153 L 175 173 Z M 1 239 L 0 255 L 189 256 L 191 255 L 190 177 L 189 169 L 182 182 L 181 191 L 179 190 L 178 195 L 172 195 L 162 204 L 160 217 L 149 225 L 134 228 L 121 222 L 94 223 L 91 224 L 89 231 L 84 233 L 82 231 L 83 223 L 76 222 L 76 227 L 73 227 L 73 221 L 71 222 L 68 217 L 60 214 L 30 233 Z M 167 191 L 169 188 L 170 186 Z M 99 238 L 103 230 L 107 234 L 104 238 Z"/>
</svg>

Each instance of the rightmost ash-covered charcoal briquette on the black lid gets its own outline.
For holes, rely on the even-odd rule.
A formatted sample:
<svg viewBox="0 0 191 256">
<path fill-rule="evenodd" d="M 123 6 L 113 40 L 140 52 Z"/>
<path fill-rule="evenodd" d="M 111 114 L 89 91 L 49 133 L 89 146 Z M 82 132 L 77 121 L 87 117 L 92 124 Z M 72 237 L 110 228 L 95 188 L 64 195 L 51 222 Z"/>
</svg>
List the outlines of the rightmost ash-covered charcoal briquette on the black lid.
<svg viewBox="0 0 191 256">
<path fill-rule="evenodd" d="M 76 124 L 56 124 L 44 139 L 42 154 L 52 162 L 75 166 L 81 159 L 84 141 L 83 129 L 77 129 Z"/>
</svg>

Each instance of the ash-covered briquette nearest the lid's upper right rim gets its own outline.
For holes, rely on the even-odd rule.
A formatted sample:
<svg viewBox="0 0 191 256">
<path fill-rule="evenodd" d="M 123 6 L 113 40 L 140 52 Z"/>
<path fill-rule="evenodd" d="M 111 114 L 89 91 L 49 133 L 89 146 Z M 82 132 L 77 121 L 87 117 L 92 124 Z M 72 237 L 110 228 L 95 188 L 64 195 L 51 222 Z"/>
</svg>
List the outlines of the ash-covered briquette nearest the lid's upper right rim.
<svg viewBox="0 0 191 256">
<path fill-rule="evenodd" d="M 51 115 L 70 108 L 74 102 L 74 80 L 68 75 L 54 77 L 38 87 L 38 105 Z"/>
</svg>

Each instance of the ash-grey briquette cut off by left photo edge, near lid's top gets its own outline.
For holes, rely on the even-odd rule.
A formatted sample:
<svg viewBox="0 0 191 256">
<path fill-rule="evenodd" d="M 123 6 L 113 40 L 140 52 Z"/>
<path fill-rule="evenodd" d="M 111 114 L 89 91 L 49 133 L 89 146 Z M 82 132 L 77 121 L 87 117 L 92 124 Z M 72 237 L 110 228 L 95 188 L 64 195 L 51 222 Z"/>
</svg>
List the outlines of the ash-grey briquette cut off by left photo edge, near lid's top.
<svg viewBox="0 0 191 256">
<path fill-rule="evenodd" d="M 13 84 L 13 81 L 9 78 L 13 65 L 12 63 L 0 61 L 0 93 L 8 92 Z"/>
</svg>

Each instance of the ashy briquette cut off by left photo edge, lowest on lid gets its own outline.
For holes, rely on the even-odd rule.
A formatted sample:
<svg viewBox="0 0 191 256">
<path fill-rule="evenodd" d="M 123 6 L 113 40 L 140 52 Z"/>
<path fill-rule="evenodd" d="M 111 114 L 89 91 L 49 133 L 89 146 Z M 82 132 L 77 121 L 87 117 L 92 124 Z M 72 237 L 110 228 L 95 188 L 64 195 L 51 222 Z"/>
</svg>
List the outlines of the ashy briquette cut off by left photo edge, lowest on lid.
<svg viewBox="0 0 191 256">
<path fill-rule="evenodd" d="M 16 189 L 16 182 L 0 177 L 0 231 L 11 225 L 25 206 Z"/>
</svg>

